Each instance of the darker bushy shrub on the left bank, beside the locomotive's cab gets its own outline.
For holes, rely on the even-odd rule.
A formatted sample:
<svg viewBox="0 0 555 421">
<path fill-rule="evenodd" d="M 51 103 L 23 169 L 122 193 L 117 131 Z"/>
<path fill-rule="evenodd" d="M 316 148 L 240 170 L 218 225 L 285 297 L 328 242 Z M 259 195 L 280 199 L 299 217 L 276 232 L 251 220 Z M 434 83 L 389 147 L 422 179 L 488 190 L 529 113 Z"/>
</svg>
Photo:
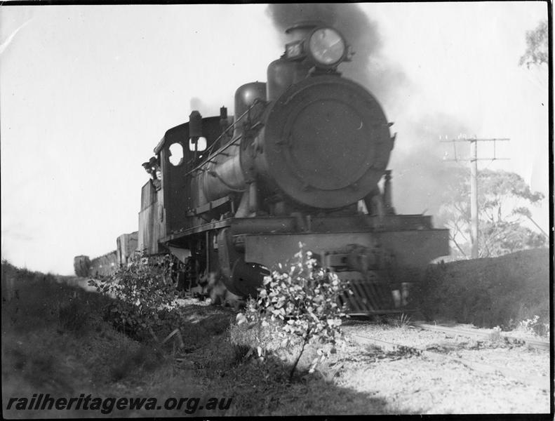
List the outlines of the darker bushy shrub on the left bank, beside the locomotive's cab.
<svg viewBox="0 0 555 421">
<path fill-rule="evenodd" d="M 153 328 L 163 323 L 163 307 L 177 297 L 175 286 L 167 269 L 145 262 L 133 262 L 121 267 L 106 281 L 88 281 L 99 293 L 116 300 L 109 303 L 105 319 L 117 329 L 133 338 L 144 339 Z"/>
</svg>

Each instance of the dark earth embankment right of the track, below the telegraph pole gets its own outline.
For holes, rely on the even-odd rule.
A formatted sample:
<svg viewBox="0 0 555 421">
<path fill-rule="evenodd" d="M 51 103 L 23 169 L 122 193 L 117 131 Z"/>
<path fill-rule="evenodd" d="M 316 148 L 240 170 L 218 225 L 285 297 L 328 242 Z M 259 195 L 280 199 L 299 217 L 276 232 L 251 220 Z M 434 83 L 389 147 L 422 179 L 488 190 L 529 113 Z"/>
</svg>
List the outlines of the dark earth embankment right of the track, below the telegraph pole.
<svg viewBox="0 0 555 421">
<path fill-rule="evenodd" d="M 514 328 L 539 316 L 549 322 L 549 250 L 430 265 L 415 302 L 428 320 Z"/>
</svg>

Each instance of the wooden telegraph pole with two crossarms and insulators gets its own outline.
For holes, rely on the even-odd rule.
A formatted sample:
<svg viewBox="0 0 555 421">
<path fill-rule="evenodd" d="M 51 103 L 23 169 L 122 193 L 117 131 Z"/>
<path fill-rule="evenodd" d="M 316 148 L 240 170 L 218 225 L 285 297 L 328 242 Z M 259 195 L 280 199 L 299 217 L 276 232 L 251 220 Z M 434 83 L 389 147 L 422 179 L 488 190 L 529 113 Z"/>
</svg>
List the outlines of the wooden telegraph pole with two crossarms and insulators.
<svg viewBox="0 0 555 421">
<path fill-rule="evenodd" d="M 479 255 L 479 241 L 478 241 L 478 161 L 496 161 L 496 160 L 507 160 L 508 158 L 497 158 L 495 155 L 495 142 L 508 141 L 507 138 L 492 138 L 492 139 L 478 139 L 476 136 L 474 138 L 467 138 L 466 136 L 462 138 L 457 138 L 453 140 L 441 140 L 440 142 L 450 142 L 453 143 L 453 150 L 455 152 L 455 159 L 447 159 L 446 161 L 469 161 L 470 163 L 470 241 L 472 243 L 472 250 L 470 257 L 472 259 L 477 259 Z M 456 142 L 469 142 L 470 144 L 470 157 L 469 159 L 459 159 L 457 157 L 457 147 Z M 493 142 L 493 157 L 492 158 L 478 158 L 478 142 Z"/>
</svg>

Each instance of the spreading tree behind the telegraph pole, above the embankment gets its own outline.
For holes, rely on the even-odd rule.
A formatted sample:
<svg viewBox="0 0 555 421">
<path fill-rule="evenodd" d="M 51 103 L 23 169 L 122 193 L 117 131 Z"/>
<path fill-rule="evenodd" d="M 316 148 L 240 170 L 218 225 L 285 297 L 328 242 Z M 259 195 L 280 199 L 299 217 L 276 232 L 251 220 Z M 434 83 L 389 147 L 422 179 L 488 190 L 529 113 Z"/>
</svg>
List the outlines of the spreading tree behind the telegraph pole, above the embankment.
<svg viewBox="0 0 555 421">
<path fill-rule="evenodd" d="M 446 186 L 438 219 L 450 229 L 455 258 L 470 255 L 470 181 L 468 171 L 453 173 Z M 523 178 L 507 171 L 483 170 L 478 175 L 479 257 L 495 257 L 516 250 L 545 246 L 546 236 L 522 225 L 531 220 L 527 206 L 544 195 L 532 192 Z"/>
</svg>

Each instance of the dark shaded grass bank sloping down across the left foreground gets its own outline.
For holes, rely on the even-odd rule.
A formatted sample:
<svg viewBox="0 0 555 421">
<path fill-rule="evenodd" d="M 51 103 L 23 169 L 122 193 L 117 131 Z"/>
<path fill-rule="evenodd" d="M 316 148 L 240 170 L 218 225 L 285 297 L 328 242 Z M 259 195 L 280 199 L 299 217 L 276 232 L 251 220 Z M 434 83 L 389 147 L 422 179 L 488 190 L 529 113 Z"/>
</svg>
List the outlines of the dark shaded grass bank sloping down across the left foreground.
<svg viewBox="0 0 555 421">
<path fill-rule="evenodd" d="M 266 330 L 236 326 L 232 309 L 188 305 L 166 314 L 156 336 L 161 340 L 179 328 L 182 346 L 173 339 L 162 345 L 152 337 L 133 340 L 117 331 L 101 311 L 109 298 L 58 280 L 2 264 L 3 297 L 11 281 L 18 291 L 2 302 L 4 408 L 11 396 L 50 393 L 232 399 L 229 409 L 199 409 L 192 414 L 197 417 L 397 412 L 383 399 L 340 385 L 354 373 L 340 373 L 326 366 L 328 362 L 315 373 L 307 373 L 315 356 L 310 347 L 289 380 L 299 345 L 279 349 Z M 259 346 L 267 350 L 264 362 L 252 352 L 247 357 Z M 55 410 L 4 413 L 60 417 Z M 175 417 L 187 413 L 114 409 L 109 415 L 83 410 L 61 415 Z"/>
</svg>

